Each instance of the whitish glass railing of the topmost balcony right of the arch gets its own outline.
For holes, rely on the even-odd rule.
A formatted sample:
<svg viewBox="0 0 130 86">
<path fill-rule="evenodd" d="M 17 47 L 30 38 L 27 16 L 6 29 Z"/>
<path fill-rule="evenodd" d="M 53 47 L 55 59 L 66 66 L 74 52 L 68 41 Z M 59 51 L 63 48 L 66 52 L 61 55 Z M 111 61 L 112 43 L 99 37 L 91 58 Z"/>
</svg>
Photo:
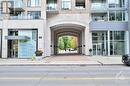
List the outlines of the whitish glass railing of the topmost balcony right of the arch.
<svg viewBox="0 0 130 86">
<path fill-rule="evenodd" d="M 91 10 L 107 10 L 106 3 L 92 3 Z"/>
</svg>

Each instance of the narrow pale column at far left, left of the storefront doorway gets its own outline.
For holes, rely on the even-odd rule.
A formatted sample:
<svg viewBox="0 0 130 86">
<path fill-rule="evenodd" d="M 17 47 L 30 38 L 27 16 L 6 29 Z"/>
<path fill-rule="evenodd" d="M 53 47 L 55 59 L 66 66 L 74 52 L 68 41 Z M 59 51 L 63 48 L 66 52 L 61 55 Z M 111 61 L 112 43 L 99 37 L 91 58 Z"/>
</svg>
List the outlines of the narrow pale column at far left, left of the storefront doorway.
<svg viewBox="0 0 130 86">
<path fill-rule="evenodd" d="M 7 28 L 8 22 L 7 20 L 3 21 L 3 29 L 2 29 L 2 58 L 7 58 L 7 50 L 8 50 L 8 45 L 7 45 L 7 40 L 5 39 L 5 36 L 8 35 L 8 28 Z"/>
</svg>

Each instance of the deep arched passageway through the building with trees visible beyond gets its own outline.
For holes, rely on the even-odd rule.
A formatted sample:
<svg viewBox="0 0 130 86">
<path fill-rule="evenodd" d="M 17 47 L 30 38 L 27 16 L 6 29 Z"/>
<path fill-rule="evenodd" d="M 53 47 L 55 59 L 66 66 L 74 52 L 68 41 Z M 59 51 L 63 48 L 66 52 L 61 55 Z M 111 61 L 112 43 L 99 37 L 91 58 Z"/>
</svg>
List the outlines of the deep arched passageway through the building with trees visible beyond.
<svg viewBox="0 0 130 86">
<path fill-rule="evenodd" d="M 84 28 L 85 27 L 76 24 L 60 24 L 51 27 L 51 54 L 84 54 Z M 67 41 L 74 38 L 74 40 L 76 40 L 74 42 L 74 44 L 76 44 L 74 46 L 75 49 L 74 47 L 72 48 L 72 46 L 67 46 L 67 44 L 64 44 L 64 48 L 60 49 L 59 40 L 63 40 L 63 38 L 66 38 L 65 40 Z"/>
</svg>

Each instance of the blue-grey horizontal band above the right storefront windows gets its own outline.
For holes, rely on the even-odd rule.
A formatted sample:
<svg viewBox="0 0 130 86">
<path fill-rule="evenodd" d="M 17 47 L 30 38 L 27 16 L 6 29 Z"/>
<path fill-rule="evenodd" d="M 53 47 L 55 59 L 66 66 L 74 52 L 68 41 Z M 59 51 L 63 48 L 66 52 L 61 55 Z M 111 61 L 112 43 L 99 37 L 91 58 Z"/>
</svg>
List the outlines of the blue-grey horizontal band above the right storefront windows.
<svg viewBox="0 0 130 86">
<path fill-rule="evenodd" d="M 91 21 L 90 31 L 104 31 L 104 30 L 128 30 L 128 22 L 112 22 L 112 21 Z"/>
</svg>

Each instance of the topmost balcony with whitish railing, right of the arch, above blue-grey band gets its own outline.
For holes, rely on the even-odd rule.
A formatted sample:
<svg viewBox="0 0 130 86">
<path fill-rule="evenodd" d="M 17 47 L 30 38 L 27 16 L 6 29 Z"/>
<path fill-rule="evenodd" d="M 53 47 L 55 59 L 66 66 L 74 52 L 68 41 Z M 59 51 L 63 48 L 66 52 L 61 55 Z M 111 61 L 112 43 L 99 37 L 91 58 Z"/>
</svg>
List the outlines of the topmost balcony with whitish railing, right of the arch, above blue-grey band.
<svg viewBox="0 0 130 86">
<path fill-rule="evenodd" d="M 91 11 L 92 12 L 106 12 L 107 4 L 106 3 L 92 3 Z"/>
</svg>

